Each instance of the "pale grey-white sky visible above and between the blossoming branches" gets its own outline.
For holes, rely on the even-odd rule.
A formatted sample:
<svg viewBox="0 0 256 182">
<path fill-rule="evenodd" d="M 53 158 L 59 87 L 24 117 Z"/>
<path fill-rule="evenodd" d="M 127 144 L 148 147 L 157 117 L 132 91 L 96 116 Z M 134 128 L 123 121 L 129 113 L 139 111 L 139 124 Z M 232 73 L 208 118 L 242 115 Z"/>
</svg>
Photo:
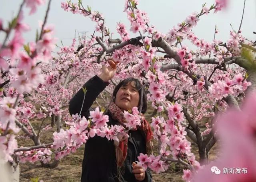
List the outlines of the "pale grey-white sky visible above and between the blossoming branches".
<svg viewBox="0 0 256 182">
<path fill-rule="evenodd" d="M 62 40 L 64 45 L 70 45 L 77 30 L 81 35 L 87 32 L 86 35 L 93 33 L 95 22 L 90 18 L 72 12 L 65 12 L 60 8 L 60 2 L 64 0 L 52 0 L 50 6 L 50 14 L 48 24 L 55 25 L 55 37 L 58 38 L 58 45 Z M 18 8 L 22 0 L 1 0 L 0 18 L 7 24 L 18 12 Z M 72 0 L 78 2 L 78 0 Z M 158 31 L 167 33 L 177 23 L 182 22 L 192 12 L 199 12 L 202 9 L 202 4 L 206 2 L 206 6 L 210 7 L 214 0 L 139 0 L 138 8 L 145 10 L 148 13 L 150 24 L 154 25 Z M 244 0 L 229 0 L 229 5 L 226 10 L 213 14 L 202 16 L 198 25 L 194 27 L 194 33 L 206 41 L 212 41 L 214 37 L 214 27 L 218 26 L 219 33 L 216 39 L 227 41 L 231 30 L 230 23 L 235 30 L 238 30 Z M 48 0 L 44 6 L 40 6 L 36 14 L 28 15 L 29 8 L 24 8 L 25 22 L 31 27 L 31 31 L 24 34 L 26 42 L 34 41 L 36 37 L 36 28 L 38 28 L 38 20 L 44 20 Z M 110 31 L 114 33 L 113 38 L 120 38 L 116 33 L 116 23 L 123 22 L 127 28 L 130 28 L 126 13 L 124 10 L 124 0 L 83 0 L 83 5 L 92 7 L 92 10 L 97 10 L 104 16 Z M 256 0 L 246 0 L 244 20 L 242 23 L 242 34 L 255 41 L 256 35 Z M 0 41 L 4 39 L 4 33 L 0 32 Z M 139 34 L 130 33 L 130 37 L 136 37 Z M 77 34 L 76 34 L 76 37 Z M 189 47 L 191 45 L 188 45 Z"/>
</svg>

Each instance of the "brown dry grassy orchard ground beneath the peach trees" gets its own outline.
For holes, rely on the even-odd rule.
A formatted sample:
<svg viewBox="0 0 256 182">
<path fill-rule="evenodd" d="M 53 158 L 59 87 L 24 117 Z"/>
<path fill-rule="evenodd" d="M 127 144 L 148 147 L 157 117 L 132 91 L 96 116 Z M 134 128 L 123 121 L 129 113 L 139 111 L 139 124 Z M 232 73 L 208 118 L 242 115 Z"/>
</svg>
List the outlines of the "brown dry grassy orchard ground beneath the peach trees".
<svg viewBox="0 0 256 182">
<path fill-rule="evenodd" d="M 97 107 L 96 105 L 92 106 Z M 145 114 L 147 121 L 151 121 L 151 115 L 153 109 L 148 103 L 148 110 Z M 44 121 L 45 124 L 50 124 L 50 118 Z M 41 121 L 34 121 L 33 125 L 35 129 L 38 129 L 41 124 Z M 198 122 L 200 128 L 204 127 L 204 121 Z M 56 131 L 56 126 L 52 129 L 42 133 L 41 142 L 50 143 L 52 142 L 52 133 Z M 191 140 L 187 137 L 188 141 Z M 18 139 L 18 144 L 23 146 L 31 146 L 33 143 L 30 139 Z M 195 143 L 191 142 L 192 152 L 196 155 L 196 160 L 199 161 L 198 147 Z M 154 141 L 154 151 L 156 152 L 157 144 Z M 34 164 L 24 163 L 20 164 L 20 182 L 28 182 L 30 178 L 39 177 L 40 180 L 44 182 L 80 182 L 80 176 L 82 172 L 82 161 L 84 154 L 84 145 L 82 145 L 76 153 L 68 155 L 60 160 L 58 166 L 54 169 L 42 168 L 40 162 L 35 162 Z M 218 155 L 218 143 L 212 147 L 209 152 L 209 160 L 216 159 Z M 182 180 L 183 168 L 180 164 L 172 164 L 166 172 L 156 174 L 152 172 L 153 180 L 155 182 L 184 182 Z"/>
</svg>

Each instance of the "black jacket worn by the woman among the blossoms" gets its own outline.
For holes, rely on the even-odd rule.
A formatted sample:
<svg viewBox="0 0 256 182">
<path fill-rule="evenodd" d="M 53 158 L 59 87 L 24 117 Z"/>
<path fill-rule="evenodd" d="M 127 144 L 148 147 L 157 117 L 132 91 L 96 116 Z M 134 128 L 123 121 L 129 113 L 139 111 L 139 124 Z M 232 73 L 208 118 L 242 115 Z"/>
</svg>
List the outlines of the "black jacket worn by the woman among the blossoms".
<svg viewBox="0 0 256 182">
<path fill-rule="evenodd" d="M 88 118 L 94 100 L 108 84 L 98 76 L 92 77 L 84 84 L 87 92 L 81 112 L 82 116 Z M 71 115 L 80 113 L 83 99 L 84 92 L 81 88 L 70 100 L 69 112 Z M 109 116 L 108 125 L 115 125 L 116 121 L 111 114 L 109 112 L 106 112 L 106 114 Z M 118 182 L 118 179 L 121 179 L 121 182 L 136 182 L 132 173 L 132 162 L 138 160 L 137 157 L 140 153 L 146 153 L 146 142 L 140 131 L 131 131 L 129 135 L 127 157 L 124 161 L 124 174 L 117 170 L 113 141 L 108 141 L 108 139 L 99 136 L 88 139 L 84 149 L 81 182 Z M 144 182 L 152 182 L 149 169 L 146 170 Z"/>
</svg>

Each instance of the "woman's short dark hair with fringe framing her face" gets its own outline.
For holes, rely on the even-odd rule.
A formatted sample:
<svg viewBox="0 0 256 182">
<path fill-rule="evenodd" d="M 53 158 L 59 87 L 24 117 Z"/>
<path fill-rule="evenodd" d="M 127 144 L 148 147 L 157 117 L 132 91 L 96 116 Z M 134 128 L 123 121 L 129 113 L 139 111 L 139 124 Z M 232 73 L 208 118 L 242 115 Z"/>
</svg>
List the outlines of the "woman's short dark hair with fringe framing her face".
<svg viewBox="0 0 256 182">
<path fill-rule="evenodd" d="M 126 78 L 118 83 L 118 85 L 116 86 L 116 88 L 114 89 L 114 92 L 113 92 L 113 102 L 114 102 L 114 100 L 116 98 L 116 94 L 117 94 L 118 90 L 121 88 L 121 86 L 126 86 L 130 82 L 134 82 L 134 87 L 138 90 L 140 98 L 141 98 L 141 94 L 142 94 L 142 90 L 143 90 L 141 112 L 142 112 L 142 114 L 144 114 L 147 111 L 147 94 L 146 94 L 146 90 L 142 89 L 142 84 L 140 83 L 140 81 L 136 78 L 133 78 L 133 77 Z M 140 103 L 141 103 L 141 101 L 139 100 L 138 110 L 140 108 Z"/>
</svg>

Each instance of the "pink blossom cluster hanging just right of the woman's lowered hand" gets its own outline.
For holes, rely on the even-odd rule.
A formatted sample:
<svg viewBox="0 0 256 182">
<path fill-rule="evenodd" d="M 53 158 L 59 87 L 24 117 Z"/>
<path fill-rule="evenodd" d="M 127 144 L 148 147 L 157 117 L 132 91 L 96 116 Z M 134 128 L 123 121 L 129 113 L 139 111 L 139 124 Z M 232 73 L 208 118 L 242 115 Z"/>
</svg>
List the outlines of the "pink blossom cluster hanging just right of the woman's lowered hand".
<svg viewBox="0 0 256 182">
<path fill-rule="evenodd" d="M 164 172 L 168 168 L 168 164 L 164 162 L 169 155 L 172 155 L 173 159 L 185 158 L 189 160 L 190 164 L 198 170 L 200 168 L 199 162 L 195 160 L 195 156 L 191 153 L 190 142 L 186 140 L 185 127 L 181 125 L 184 121 L 184 116 L 182 112 L 182 106 L 178 103 L 169 104 L 168 106 L 168 120 L 164 120 L 163 117 L 152 117 L 151 126 L 154 129 L 154 138 L 161 141 L 160 155 L 154 157 L 150 155 L 140 154 L 139 164 L 144 168 L 150 167 L 152 170 L 159 172 Z M 177 121 L 177 123 L 176 123 Z M 168 136 L 170 134 L 170 136 Z M 170 151 L 166 150 L 166 146 L 170 146 Z M 184 178 L 188 178 L 184 171 Z M 189 170 L 189 173 L 191 171 Z M 189 176 L 189 178 L 191 178 Z"/>
</svg>

